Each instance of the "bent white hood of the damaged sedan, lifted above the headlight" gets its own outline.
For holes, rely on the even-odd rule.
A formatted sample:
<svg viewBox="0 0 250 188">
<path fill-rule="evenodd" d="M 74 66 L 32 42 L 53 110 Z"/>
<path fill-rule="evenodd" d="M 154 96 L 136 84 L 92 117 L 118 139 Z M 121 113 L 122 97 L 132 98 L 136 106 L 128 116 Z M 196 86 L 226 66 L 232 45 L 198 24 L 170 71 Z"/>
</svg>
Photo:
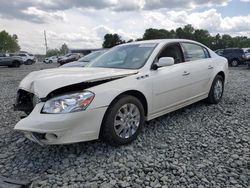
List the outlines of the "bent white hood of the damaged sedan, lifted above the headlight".
<svg viewBox="0 0 250 188">
<path fill-rule="evenodd" d="M 95 82 L 136 74 L 137 70 L 66 67 L 31 72 L 20 83 L 19 88 L 45 98 L 50 92 L 73 84 Z"/>
</svg>

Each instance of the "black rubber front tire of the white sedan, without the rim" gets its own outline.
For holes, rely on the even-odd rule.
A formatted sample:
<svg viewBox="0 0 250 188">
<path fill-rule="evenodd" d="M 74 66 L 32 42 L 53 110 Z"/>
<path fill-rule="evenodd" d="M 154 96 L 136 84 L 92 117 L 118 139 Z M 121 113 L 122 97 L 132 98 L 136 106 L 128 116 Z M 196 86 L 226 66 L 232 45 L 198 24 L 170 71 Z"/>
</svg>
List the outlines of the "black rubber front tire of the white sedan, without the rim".
<svg viewBox="0 0 250 188">
<path fill-rule="evenodd" d="M 130 138 L 121 138 L 119 137 L 116 132 L 115 132 L 115 128 L 114 128 L 114 121 L 115 121 L 115 117 L 117 114 L 117 111 L 125 104 L 127 103 L 132 103 L 134 105 L 137 106 L 137 108 L 139 109 L 140 112 L 140 124 L 139 127 L 137 128 L 136 132 L 134 133 L 134 135 L 132 135 Z M 141 102 L 133 97 L 133 96 L 129 96 L 129 95 L 124 95 L 122 97 L 120 97 L 119 99 L 115 100 L 108 108 L 107 113 L 105 114 L 105 120 L 104 120 L 104 129 L 103 130 L 105 133 L 105 135 L 101 135 L 102 137 L 109 137 L 108 141 L 111 144 L 114 145 L 124 145 L 124 144 L 128 144 L 130 142 L 132 142 L 133 140 L 135 140 L 138 136 L 138 134 L 141 132 L 142 126 L 145 122 L 145 115 L 144 115 L 144 108 L 143 105 L 141 104 Z M 107 136 L 109 135 L 109 136 Z M 104 140 L 107 140 L 107 138 L 103 138 Z"/>
</svg>

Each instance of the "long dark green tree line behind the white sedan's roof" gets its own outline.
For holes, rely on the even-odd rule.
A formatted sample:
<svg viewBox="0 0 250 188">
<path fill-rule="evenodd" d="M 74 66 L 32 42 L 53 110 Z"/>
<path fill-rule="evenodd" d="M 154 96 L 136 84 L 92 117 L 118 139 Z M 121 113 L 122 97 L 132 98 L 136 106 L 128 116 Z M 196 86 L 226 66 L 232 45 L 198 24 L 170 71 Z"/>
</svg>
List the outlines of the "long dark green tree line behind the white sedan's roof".
<svg viewBox="0 0 250 188">
<path fill-rule="evenodd" d="M 142 38 L 138 38 L 135 41 L 140 40 L 151 40 L 151 39 L 190 39 L 205 44 L 212 50 L 223 49 L 223 48 L 247 48 L 250 47 L 250 38 L 246 36 L 232 37 L 228 34 L 217 34 L 212 36 L 208 30 L 195 29 L 192 25 L 188 24 L 184 27 L 179 27 L 175 30 L 166 29 L 146 29 Z M 118 34 L 106 34 L 104 36 L 103 47 L 111 48 L 115 45 L 131 42 L 133 40 L 124 41 Z"/>
</svg>

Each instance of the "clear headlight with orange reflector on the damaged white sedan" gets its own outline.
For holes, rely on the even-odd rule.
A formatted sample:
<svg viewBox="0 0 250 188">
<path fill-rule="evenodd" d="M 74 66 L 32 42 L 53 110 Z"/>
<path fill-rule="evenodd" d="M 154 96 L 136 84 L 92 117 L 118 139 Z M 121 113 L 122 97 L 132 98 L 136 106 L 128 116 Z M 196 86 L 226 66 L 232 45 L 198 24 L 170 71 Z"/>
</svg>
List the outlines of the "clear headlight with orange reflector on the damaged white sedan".
<svg viewBox="0 0 250 188">
<path fill-rule="evenodd" d="M 90 91 L 61 95 L 46 101 L 42 112 L 64 114 L 85 110 L 94 96 L 95 94 Z"/>
</svg>

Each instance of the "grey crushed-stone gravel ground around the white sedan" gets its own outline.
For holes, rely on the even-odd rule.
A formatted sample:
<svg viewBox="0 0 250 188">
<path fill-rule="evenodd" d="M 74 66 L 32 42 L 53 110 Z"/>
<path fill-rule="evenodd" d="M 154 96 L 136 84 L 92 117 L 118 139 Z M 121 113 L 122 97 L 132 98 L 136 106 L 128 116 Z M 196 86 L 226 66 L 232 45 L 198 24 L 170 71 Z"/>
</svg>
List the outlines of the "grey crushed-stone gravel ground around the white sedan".
<svg viewBox="0 0 250 188">
<path fill-rule="evenodd" d="M 0 175 L 32 187 L 250 187 L 250 70 L 230 69 L 222 102 L 150 121 L 128 146 L 100 141 L 41 147 L 13 130 L 20 80 L 55 65 L 0 68 Z"/>
</svg>

